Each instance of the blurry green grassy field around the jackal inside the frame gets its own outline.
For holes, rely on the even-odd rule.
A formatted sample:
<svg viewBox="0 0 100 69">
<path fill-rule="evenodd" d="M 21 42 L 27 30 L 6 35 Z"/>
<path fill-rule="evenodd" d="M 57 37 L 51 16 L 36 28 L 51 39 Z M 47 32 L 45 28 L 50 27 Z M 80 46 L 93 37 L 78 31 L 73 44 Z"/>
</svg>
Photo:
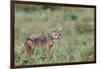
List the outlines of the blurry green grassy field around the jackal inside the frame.
<svg viewBox="0 0 100 69">
<path fill-rule="evenodd" d="M 23 5 L 17 5 L 15 10 L 16 65 L 94 60 L 94 10 L 92 8 L 60 7 L 51 10 L 40 7 L 41 9 L 27 11 L 21 10 L 20 6 Z M 63 30 L 61 39 L 55 42 L 51 55 L 47 56 L 45 46 L 39 46 L 35 49 L 34 55 L 29 57 L 24 48 L 28 33 L 48 33 L 54 27 L 62 27 Z"/>
</svg>

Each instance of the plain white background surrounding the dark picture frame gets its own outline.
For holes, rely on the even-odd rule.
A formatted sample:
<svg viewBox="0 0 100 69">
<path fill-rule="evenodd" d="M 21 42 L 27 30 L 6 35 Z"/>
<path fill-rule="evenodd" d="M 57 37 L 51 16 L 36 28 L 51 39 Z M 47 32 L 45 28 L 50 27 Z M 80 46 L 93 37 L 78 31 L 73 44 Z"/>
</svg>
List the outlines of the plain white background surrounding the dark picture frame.
<svg viewBox="0 0 100 69">
<path fill-rule="evenodd" d="M 24 0 L 26 1 L 26 0 Z M 28 0 L 97 6 L 97 63 L 84 65 L 66 65 L 39 67 L 32 69 L 99 69 L 100 67 L 100 2 L 99 0 Z M 10 0 L 0 0 L 0 69 L 10 67 Z"/>
</svg>

